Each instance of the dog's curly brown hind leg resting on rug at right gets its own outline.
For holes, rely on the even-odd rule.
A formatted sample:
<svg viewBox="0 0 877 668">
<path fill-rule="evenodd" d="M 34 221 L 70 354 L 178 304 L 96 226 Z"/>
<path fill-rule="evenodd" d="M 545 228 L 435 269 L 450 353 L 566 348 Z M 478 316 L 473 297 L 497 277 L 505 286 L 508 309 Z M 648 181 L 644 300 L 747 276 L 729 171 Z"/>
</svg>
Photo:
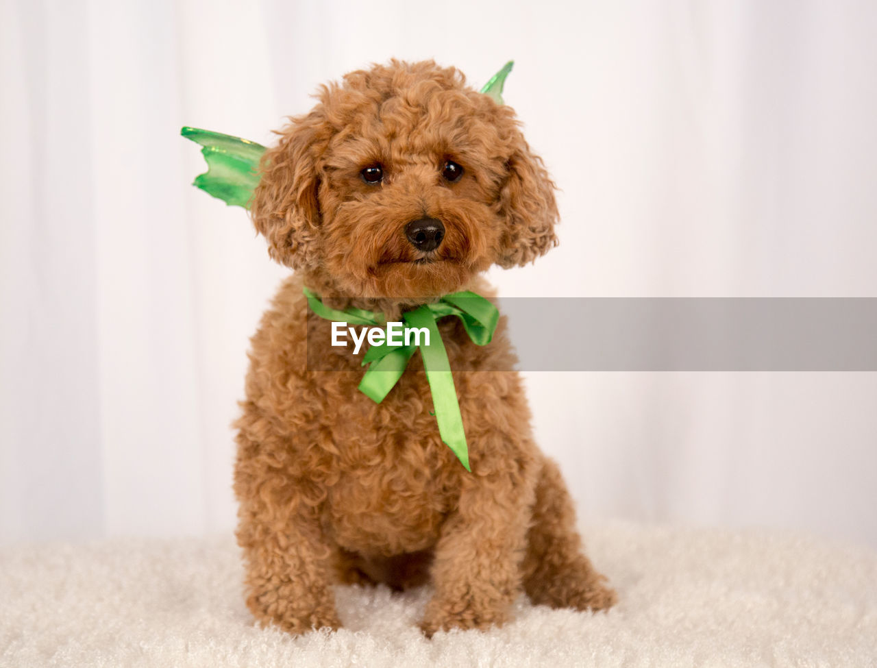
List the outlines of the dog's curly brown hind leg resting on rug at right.
<svg viewBox="0 0 877 668">
<path fill-rule="evenodd" d="M 536 487 L 522 566 L 524 591 L 537 605 L 600 610 L 616 593 L 581 551 L 573 501 L 557 465 L 545 458 Z"/>
</svg>

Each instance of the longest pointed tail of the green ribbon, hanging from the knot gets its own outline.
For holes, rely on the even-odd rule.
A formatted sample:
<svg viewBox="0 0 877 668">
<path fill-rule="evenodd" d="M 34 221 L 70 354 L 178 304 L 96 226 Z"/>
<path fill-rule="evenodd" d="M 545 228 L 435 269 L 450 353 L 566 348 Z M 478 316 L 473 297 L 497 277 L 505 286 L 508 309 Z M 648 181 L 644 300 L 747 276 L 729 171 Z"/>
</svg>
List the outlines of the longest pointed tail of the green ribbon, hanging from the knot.
<svg viewBox="0 0 877 668">
<path fill-rule="evenodd" d="M 423 327 L 430 332 L 430 345 L 421 345 L 420 353 L 424 358 L 426 380 L 430 383 L 432 405 L 436 412 L 436 422 L 439 423 L 439 435 L 460 459 L 460 464 L 471 473 L 466 432 L 463 430 L 463 416 L 460 414 L 460 402 L 457 401 L 457 388 L 453 384 L 451 363 L 447 359 L 447 351 L 441 340 L 439 327 L 426 306 L 403 314 L 403 318 L 412 327 Z"/>
</svg>

